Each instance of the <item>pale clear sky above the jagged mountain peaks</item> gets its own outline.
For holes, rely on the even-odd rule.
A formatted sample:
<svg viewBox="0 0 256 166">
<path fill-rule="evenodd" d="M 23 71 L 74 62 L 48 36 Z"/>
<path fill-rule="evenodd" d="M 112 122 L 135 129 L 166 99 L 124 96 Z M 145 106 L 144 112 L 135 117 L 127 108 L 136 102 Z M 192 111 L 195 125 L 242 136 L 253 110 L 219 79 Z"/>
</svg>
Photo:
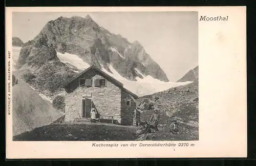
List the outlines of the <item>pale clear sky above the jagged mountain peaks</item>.
<svg viewBox="0 0 256 166">
<path fill-rule="evenodd" d="M 32 40 L 60 16 L 86 17 L 129 42 L 139 41 L 170 81 L 198 65 L 197 12 L 13 12 L 13 37 Z"/>
</svg>

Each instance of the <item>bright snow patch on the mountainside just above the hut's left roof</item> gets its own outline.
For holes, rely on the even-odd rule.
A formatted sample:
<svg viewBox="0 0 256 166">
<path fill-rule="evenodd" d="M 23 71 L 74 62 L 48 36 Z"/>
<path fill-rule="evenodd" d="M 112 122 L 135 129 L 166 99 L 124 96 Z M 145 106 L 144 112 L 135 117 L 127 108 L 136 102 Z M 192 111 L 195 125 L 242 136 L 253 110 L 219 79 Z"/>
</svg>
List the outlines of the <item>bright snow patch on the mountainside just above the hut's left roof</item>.
<svg viewBox="0 0 256 166">
<path fill-rule="evenodd" d="M 90 67 L 90 65 L 86 62 L 83 62 L 83 60 L 78 57 L 76 54 L 71 54 L 71 53 L 60 53 L 57 52 L 57 57 L 59 58 L 59 60 L 63 63 L 69 63 L 71 65 L 74 65 L 75 67 L 77 67 L 80 70 L 85 70 L 88 67 Z"/>
</svg>

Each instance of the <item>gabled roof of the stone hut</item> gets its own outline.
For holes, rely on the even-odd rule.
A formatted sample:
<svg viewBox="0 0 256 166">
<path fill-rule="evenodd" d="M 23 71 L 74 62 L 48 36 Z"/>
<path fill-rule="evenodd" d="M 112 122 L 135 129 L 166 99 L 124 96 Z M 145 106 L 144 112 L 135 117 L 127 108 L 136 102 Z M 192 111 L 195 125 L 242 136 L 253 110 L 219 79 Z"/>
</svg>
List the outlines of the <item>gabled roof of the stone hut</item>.
<svg viewBox="0 0 256 166">
<path fill-rule="evenodd" d="M 90 66 L 89 68 L 87 68 L 86 70 L 82 71 L 81 73 L 79 73 L 77 76 L 75 76 L 74 78 L 72 78 L 70 81 L 68 81 L 66 84 L 63 85 L 64 88 L 66 88 L 71 82 L 73 82 L 75 79 L 79 78 L 82 74 L 88 72 L 90 69 L 96 70 L 97 72 L 100 73 L 101 76 L 103 76 L 106 79 L 111 80 L 112 82 L 114 82 L 119 88 L 123 89 L 125 92 L 129 93 L 130 95 L 132 95 L 134 98 L 138 98 L 138 96 L 134 93 L 132 93 L 131 91 L 125 89 L 123 87 L 123 84 L 116 80 L 114 77 L 110 76 L 109 74 L 105 73 L 104 71 L 100 70 L 99 68 L 97 68 L 95 65 Z"/>
</svg>

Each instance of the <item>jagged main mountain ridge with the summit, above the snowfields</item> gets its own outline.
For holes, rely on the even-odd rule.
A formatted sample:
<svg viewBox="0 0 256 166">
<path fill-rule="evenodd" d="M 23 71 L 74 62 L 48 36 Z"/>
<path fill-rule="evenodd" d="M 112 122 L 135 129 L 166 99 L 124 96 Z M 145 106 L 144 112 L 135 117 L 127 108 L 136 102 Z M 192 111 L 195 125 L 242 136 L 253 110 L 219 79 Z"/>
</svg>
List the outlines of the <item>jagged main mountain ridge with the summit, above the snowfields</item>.
<svg viewBox="0 0 256 166">
<path fill-rule="evenodd" d="M 90 15 L 86 18 L 58 17 L 49 21 L 32 41 L 37 43 L 41 40 L 52 44 L 57 52 L 77 54 L 84 62 L 98 68 L 104 67 L 110 71 L 106 65 L 109 63 L 120 75 L 130 80 L 140 76 L 135 72 L 137 68 L 144 75 L 168 81 L 164 71 L 138 41 L 130 43 L 121 35 L 110 33 Z"/>
</svg>

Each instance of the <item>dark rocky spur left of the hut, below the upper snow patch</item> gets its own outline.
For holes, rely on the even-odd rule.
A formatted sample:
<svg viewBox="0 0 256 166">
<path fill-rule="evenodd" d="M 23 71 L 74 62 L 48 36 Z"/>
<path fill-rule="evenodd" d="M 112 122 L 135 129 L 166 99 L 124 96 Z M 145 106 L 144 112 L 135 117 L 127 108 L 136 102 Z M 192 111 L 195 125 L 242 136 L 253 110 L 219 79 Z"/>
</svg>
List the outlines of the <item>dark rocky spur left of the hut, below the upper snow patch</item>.
<svg viewBox="0 0 256 166">
<path fill-rule="evenodd" d="M 28 69 L 23 79 L 38 92 L 53 96 L 61 91 L 61 86 L 77 73 L 67 64 L 59 61 L 55 49 L 45 41 L 26 45 L 20 50 L 16 68 Z"/>
</svg>

